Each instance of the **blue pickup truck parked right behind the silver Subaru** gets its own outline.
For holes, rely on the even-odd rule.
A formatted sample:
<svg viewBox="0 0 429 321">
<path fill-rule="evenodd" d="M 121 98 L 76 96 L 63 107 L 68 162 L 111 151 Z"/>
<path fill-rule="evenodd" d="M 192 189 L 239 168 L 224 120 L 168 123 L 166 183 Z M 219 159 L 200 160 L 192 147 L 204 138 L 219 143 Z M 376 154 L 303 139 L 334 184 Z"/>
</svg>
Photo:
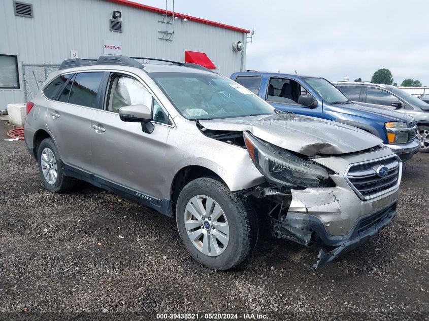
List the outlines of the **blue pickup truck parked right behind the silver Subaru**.
<svg viewBox="0 0 429 321">
<path fill-rule="evenodd" d="M 230 78 L 280 111 L 332 120 L 370 132 L 380 137 L 404 163 L 420 147 L 412 117 L 353 103 L 324 78 L 260 72 L 234 73 Z"/>
</svg>

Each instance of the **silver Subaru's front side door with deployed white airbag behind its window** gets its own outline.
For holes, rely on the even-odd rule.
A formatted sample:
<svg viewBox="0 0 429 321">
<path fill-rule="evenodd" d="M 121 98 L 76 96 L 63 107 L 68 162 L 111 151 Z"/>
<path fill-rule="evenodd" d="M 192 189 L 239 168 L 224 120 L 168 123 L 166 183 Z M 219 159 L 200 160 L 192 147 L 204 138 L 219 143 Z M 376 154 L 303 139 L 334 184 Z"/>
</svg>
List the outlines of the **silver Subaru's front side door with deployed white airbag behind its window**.
<svg viewBox="0 0 429 321">
<path fill-rule="evenodd" d="M 92 117 L 95 174 L 120 185 L 127 193 L 153 201 L 162 199 L 162 170 L 171 128 L 168 114 L 136 76 L 111 73 L 104 108 Z M 144 104 L 151 108 L 153 131 L 141 123 L 124 122 L 119 109 Z"/>
</svg>

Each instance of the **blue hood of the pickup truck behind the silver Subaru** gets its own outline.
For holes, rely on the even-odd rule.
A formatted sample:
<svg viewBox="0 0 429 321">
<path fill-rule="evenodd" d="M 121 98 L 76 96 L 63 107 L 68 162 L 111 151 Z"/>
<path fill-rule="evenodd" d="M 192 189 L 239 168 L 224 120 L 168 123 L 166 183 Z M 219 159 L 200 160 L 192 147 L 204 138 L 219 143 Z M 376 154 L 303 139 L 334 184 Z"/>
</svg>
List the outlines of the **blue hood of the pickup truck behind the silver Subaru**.
<svg viewBox="0 0 429 321">
<path fill-rule="evenodd" d="M 362 111 L 365 114 L 371 114 L 371 118 L 375 116 L 378 119 L 384 120 L 384 122 L 412 123 L 414 121 L 414 118 L 408 115 L 405 115 L 400 111 L 398 112 L 392 111 L 388 107 L 384 108 L 380 106 L 374 106 L 374 107 L 364 106 L 354 102 L 336 104 L 335 106 L 341 107 L 343 111 L 347 111 L 349 114 L 352 114 L 352 115 L 356 115 L 359 111 Z M 334 107 L 334 105 L 331 105 L 331 108 L 332 107 Z"/>
</svg>

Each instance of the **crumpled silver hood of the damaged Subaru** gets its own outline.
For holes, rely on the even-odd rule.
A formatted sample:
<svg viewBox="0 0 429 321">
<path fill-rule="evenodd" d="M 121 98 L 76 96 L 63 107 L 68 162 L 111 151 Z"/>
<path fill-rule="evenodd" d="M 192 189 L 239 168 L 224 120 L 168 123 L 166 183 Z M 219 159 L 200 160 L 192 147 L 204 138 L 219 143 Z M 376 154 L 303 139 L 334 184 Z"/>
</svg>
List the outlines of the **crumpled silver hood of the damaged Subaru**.
<svg viewBox="0 0 429 321">
<path fill-rule="evenodd" d="M 201 120 L 210 130 L 249 131 L 273 145 L 306 156 L 362 151 L 383 141 L 355 127 L 295 114 Z"/>
</svg>

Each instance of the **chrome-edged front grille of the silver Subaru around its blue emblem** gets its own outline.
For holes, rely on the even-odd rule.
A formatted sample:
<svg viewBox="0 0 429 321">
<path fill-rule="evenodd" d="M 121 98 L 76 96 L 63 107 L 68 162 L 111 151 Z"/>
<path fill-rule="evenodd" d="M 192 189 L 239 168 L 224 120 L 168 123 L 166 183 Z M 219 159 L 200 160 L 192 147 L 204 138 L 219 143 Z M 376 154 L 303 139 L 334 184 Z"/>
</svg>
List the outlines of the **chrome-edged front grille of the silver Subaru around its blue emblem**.
<svg viewBox="0 0 429 321">
<path fill-rule="evenodd" d="M 387 175 L 378 174 L 378 169 L 386 166 Z M 370 199 L 387 193 L 399 186 L 402 162 L 396 156 L 369 162 L 352 164 L 346 173 L 346 180 L 362 199 Z"/>
</svg>

